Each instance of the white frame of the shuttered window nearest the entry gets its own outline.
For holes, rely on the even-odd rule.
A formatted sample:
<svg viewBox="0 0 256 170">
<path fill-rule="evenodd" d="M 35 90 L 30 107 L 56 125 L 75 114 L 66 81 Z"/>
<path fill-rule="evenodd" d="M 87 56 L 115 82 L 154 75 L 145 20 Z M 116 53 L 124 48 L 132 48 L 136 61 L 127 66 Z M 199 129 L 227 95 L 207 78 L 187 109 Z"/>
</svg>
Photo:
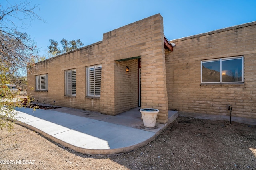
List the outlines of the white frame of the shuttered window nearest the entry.
<svg viewBox="0 0 256 170">
<path fill-rule="evenodd" d="M 96 88 L 95 88 L 95 68 L 101 68 L 100 69 L 100 91 L 101 91 L 101 78 L 102 78 L 102 65 L 98 64 L 98 65 L 94 65 L 94 66 L 88 66 L 86 67 L 86 96 L 88 97 L 100 97 L 100 94 L 96 94 Z M 90 92 L 90 69 L 94 68 L 94 94 L 91 94 Z"/>
</svg>

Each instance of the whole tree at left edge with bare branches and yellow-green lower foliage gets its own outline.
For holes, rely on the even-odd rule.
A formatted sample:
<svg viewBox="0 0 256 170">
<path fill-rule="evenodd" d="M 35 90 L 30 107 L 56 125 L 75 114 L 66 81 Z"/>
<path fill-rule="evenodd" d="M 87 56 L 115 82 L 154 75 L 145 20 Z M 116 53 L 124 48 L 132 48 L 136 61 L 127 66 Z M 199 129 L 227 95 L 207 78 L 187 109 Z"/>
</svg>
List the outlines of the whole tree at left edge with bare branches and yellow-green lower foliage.
<svg viewBox="0 0 256 170">
<path fill-rule="evenodd" d="M 38 6 L 31 7 L 27 1 L 10 2 L 5 6 L 0 2 L 0 129 L 9 131 L 13 126 L 11 119 L 15 119 L 14 108 L 21 107 L 22 102 L 17 102 L 18 93 L 14 93 L 8 84 L 20 82 L 27 67 L 33 66 L 38 58 L 34 40 L 18 29 L 29 26 L 32 20 L 42 20 L 34 12 Z"/>
</svg>

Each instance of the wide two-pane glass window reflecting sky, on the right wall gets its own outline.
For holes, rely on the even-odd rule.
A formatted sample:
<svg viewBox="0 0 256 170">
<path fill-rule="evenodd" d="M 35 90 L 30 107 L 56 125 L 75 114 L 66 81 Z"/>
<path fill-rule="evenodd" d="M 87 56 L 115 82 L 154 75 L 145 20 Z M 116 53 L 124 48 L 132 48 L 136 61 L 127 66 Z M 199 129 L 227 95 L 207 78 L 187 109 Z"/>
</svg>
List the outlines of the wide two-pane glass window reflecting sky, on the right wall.
<svg viewBox="0 0 256 170">
<path fill-rule="evenodd" d="M 201 61 L 201 82 L 244 82 L 244 57 Z"/>
</svg>

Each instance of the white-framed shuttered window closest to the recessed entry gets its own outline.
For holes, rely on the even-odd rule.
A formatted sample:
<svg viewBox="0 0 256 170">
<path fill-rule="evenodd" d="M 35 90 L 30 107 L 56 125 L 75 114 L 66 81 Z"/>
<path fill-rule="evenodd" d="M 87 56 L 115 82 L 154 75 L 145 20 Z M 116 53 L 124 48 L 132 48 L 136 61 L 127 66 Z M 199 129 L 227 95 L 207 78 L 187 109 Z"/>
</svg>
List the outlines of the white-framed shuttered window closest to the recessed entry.
<svg viewBox="0 0 256 170">
<path fill-rule="evenodd" d="M 87 67 L 87 96 L 100 97 L 101 65 Z"/>
</svg>

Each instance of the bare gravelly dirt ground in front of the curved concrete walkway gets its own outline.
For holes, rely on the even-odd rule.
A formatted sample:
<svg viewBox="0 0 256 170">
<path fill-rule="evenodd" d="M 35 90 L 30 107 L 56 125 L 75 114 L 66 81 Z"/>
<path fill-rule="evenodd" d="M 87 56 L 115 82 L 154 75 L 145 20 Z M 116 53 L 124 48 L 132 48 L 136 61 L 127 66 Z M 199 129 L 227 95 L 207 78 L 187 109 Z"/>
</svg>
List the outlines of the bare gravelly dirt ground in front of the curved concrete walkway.
<svg viewBox="0 0 256 170">
<path fill-rule="evenodd" d="M 256 125 L 178 117 L 148 145 L 116 156 L 74 152 L 15 125 L 0 131 L 0 169 L 256 170 Z"/>
</svg>

